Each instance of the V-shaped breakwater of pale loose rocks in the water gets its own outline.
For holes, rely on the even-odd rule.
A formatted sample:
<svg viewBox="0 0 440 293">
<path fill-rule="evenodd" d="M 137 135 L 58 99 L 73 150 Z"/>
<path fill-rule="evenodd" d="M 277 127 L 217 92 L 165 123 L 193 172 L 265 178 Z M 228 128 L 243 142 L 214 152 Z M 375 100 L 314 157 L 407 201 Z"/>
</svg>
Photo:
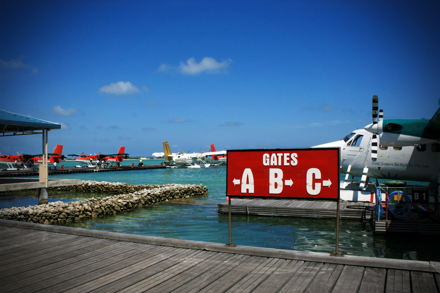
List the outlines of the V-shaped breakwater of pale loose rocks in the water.
<svg viewBox="0 0 440 293">
<path fill-rule="evenodd" d="M 85 184 L 85 182 L 87 182 L 87 184 Z M 112 184 L 113 183 L 109 182 L 83 181 L 81 186 L 95 186 L 95 188 L 107 185 L 109 185 L 110 188 L 119 186 Z M 127 186 L 125 186 L 125 183 L 123 184 L 124 188 L 133 188 L 133 190 L 135 187 L 138 189 L 139 186 L 149 186 L 150 189 L 143 188 L 142 190 L 128 194 L 106 196 L 102 199 L 92 197 L 91 199 L 71 203 L 58 201 L 38 206 L 1 209 L 0 219 L 58 225 L 79 221 L 81 219 L 103 217 L 105 215 L 133 210 L 137 207 L 154 203 L 168 202 L 170 199 L 208 194 L 208 188 L 202 184 L 126 185 Z"/>
</svg>

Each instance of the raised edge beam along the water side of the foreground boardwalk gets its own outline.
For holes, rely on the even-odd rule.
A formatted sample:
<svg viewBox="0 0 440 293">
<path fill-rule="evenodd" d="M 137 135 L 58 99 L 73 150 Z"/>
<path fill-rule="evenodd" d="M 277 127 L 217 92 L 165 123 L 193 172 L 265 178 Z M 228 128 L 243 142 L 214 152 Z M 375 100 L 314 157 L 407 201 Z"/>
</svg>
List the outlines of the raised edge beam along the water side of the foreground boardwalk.
<svg viewBox="0 0 440 293">
<path fill-rule="evenodd" d="M 201 242 L 201 241 L 171 239 L 171 238 L 154 237 L 154 236 L 130 235 L 125 233 L 97 231 L 92 229 L 27 223 L 27 222 L 2 220 L 2 219 L 0 219 L 0 225 L 16 227 L 16 228 L 64 233 L 71 235 L 80 235 L 86 237 L 111 239 L 118 241 L 128 241 L 128 242 L 154 244 L 161 246 L 172 246 L 172 247 L 196 249 L 196 250 L 216 251 L 216 252 L 224 252 L 224 253 L 236 253 L 236 254 L 260 256 L 260 257 L 275 257 L 275 258 L 291 259 L 291 260 L 304 260 L 304 261 L 325 262 L 325 263 L 343 264 L 343 265 L 357 265 L 364 267 L 391 268 L 391 269 L 400 269 L 400 270 L 414 270 L 414 271 L 427 271 L 427 272 L 440 273 L 440 263 L 434 261 L 428 262 L 428 261 L 419 261 L 419 260 L 396 260 L 389 258 L 359 257 L 359 256 L 351 256 L 351 255 L 346 255 L 344 257 L 331 257 L 328 253 L 317 253 L 317 252 L 308 252 L 308 251 L 279 250 L 273 248 L 240 246 L 240 245 L 236 247 L 228 247 L 228 246 L 224 246 L 223 243 L 215 243 L 215 242 Z"/>
</svg>

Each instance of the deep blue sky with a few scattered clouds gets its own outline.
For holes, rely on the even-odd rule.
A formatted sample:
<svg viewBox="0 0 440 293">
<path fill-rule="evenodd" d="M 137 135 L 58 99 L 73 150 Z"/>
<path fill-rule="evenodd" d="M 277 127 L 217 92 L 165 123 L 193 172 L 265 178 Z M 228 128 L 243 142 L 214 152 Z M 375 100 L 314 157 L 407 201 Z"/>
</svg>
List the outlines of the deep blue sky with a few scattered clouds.
<svg viewBox="0 0 440 293">
<path fill-rule="evenodd" d="M 49 148 L 310 147 L 440 98 L 439 1 L 0 1 L 0 108 Z M 0 151 L 41 150 L 41 136 Z"/>
</svg>

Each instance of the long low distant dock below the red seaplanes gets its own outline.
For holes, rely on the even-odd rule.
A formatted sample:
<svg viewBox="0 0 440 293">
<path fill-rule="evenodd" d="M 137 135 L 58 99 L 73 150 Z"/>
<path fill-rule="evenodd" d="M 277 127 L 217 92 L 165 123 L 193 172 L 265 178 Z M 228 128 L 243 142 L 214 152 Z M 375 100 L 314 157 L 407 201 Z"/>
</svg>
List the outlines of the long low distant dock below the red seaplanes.
<svg viewBox="0 0 440 293">
<path fill-rule="evenodd" d="M 150 169 L 165 169 L 166 166 L 162 165 L 143 165 L 143 166 L 112 166 L 104 169 L 95 169 L 95 168 L 88 168 L 88 167 L 81 167 L 81 168 L 57 168 L 55 171 L 54 169 L 49 169 L 49 175 L 56 175 L 56 174 L 74 174 L 74 173 L 98 173 L 98 172 L 118 172 L 118 171 L 132 171 L 132 170 L 150 170 Z M 0 178 L 5 177 L 27 177 L 27 176 L 38 176 L 39 172 L 38 169 L 20 169 L 20 170 L 11 170 L 8 171 L 6 169 L 1 170 L 0 172 Z"/>
</svg>

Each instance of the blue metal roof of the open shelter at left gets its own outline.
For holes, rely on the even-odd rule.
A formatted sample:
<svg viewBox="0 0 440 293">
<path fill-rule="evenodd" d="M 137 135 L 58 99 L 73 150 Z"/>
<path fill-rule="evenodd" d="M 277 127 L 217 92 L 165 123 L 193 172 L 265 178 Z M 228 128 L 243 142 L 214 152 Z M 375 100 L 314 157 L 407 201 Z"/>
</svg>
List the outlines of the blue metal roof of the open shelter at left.
<svg viewBox="0 0 440 293">
<path fill-rule="evenodd" d="M 1 136 L 42 134 L 51 129 L 61 129 L 61 125 L 0 109 Z"/>
</svg>

